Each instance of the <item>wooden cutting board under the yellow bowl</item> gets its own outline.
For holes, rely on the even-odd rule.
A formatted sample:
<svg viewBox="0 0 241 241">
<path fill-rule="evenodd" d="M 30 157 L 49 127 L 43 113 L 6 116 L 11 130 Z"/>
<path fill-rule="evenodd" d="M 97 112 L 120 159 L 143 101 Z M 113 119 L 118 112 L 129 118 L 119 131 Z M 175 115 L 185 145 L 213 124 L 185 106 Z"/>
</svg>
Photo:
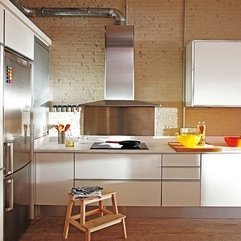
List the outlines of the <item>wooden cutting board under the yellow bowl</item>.
<svg viewBox="0 0 241 241">
<path fill-rule="evenodd" d="M 204 146 L 186 147 L 179 142 L 168 142 L 168 144 L 177 152 L 220 152 L 221 147 L 206 144 Z"/>
</svg>

